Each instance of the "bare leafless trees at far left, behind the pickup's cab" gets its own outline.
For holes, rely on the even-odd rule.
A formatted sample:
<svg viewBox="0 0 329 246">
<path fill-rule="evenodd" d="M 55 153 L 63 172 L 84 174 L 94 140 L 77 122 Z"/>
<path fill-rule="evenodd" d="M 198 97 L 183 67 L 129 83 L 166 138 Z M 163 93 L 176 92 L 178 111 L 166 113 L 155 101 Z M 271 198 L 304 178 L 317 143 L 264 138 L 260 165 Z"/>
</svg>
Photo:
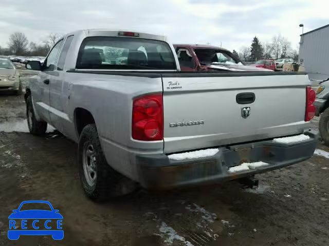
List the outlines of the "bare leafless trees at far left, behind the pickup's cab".
<svg viewBox="0 0 329 246">
<path fill-rule="evenodd" d="M 28 42 L 23 32 L 14 32 L 9 36 L 8 47 L 0 47 L 0 55 L 46 56 L 60 38 L 60 34 L 50 33 L 41 44 L 36 44 Z"/>
</svg>

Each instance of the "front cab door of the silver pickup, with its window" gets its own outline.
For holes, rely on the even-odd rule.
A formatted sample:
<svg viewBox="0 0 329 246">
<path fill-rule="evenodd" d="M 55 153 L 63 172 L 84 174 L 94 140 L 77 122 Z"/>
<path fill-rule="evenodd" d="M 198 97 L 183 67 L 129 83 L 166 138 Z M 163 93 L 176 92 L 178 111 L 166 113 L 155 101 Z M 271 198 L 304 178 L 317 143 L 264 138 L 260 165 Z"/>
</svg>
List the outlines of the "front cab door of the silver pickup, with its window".
<svg viewBox="0 0 329 246">
<path fill-rule="evenodd" d="M 47 58 L 44 61 L 42 71 L 40 72 L 40 80 L 36 85 L 33 85 L 37 91 L 38 96 L 33 95 L 34 105 L 38 114 L 42 119 L 49 122 L 51 124 L 49 109 L 49 90 L 50 90 L 50 77 L 56 73 L 54 71 L 55 62 L 58 56 L 58 52 L 63 43 L 63 39 L 59 40 L 59 42 L 53 46 L 51 51 L 49 52 Z"/>
</svg>

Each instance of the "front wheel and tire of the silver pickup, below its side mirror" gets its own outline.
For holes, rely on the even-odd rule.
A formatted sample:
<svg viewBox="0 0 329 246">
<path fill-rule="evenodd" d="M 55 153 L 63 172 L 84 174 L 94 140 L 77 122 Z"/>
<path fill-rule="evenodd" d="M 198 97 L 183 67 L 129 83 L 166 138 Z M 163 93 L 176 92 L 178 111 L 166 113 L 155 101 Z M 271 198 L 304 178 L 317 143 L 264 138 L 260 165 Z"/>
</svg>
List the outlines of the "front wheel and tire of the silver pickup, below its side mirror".
<svg viewBox="0 0 329 246">
<path fill-rule="evenodd" d="M 27 125 L 32 135 L 42 136 L 46 133 L 47 122 L 35 119 L 31 95 L 28 95 L 26 98 L 26 116 Z"/>
</svg>

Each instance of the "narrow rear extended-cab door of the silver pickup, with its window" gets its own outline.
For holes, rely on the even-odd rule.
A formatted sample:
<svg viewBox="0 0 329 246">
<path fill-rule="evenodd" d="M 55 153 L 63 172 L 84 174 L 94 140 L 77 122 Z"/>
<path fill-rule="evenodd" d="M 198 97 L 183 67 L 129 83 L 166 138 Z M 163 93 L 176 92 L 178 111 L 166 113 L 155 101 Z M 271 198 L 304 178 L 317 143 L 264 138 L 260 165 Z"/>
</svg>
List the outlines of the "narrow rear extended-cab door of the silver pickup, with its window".
<svg viewBox="0 0 329 246">
<path fill-rule="evenodd" d="M 63 120 L 68 120 L 64 113 L 67 106 L 68 84 L 64 83 L 66 70 L 64 69 L 67 51 L 72 43 L 73 35 L 65 39 L 63 49 L 60 51 L 54 72 L 50 76 L 50 120 L 54 128 L 64 133 Z"/>
</svg>

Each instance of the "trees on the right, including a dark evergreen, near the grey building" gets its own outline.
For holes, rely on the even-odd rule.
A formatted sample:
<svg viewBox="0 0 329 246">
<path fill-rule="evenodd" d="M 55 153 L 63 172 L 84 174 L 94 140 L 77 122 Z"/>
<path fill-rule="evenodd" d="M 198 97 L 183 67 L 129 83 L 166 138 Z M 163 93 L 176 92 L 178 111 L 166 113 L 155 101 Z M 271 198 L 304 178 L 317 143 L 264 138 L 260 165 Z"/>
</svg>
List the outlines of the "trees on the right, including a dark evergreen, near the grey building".
<svg viewBox="0 0 329 246">
<path fill-rule="evenodd" d="M 266 43 L 261 43 L 259 38 L 255 36 L 250 47 L 244 46 L 239 53 L 235 50 L 233 53 L 244 61 L 279 58 L 292 58 L 298 61 L 298 51 L 291 48 L 289 40 L 281 34 L 273 36 L 271 42 Z"/>
</svg>

